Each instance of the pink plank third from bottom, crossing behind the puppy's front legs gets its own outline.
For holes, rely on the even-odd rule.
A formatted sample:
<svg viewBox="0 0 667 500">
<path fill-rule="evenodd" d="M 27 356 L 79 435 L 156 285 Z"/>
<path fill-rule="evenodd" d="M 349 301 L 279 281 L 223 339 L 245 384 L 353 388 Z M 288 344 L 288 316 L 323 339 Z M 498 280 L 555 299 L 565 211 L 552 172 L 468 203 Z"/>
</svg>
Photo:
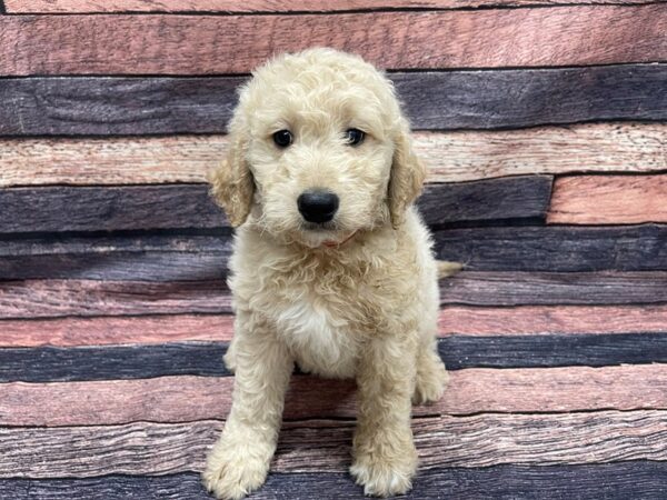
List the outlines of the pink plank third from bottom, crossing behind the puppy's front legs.
<svg viewBox="0 0 667 500">
<path fill-rule="evenodd" d="M 416 416 L 667 409 L 667 366 L 467 368 L 450 373 L 445 397 Z M 94 382 L 0 384 L 0 426 L 107 426 L 226 418 L 233 378 L 160 377 Z M 81 398 L 81 394 L 87 394 Z M 197 401 L 197 404 L 192 404 Z M 293 376 L 286 419 L 354 418 L 352 381 Z"/>
</svg>

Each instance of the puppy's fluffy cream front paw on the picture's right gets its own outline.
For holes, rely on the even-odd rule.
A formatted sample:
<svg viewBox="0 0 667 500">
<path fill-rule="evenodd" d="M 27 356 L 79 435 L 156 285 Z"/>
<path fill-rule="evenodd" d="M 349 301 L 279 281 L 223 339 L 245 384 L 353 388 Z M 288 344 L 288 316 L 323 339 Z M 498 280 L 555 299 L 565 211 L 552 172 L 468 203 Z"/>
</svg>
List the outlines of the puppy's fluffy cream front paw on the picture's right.
<svg viewBox="0 0 667 500">
<path fill-rule="evenodd" d="M 357 484 L 364 493 L 372 497 L 391 497 L 406 493 L 412 488 L 412 476 L 417 469 L 417 453 L 391 459 L 374 454 L 360 454 L 350 467 Z"/>
</svg>

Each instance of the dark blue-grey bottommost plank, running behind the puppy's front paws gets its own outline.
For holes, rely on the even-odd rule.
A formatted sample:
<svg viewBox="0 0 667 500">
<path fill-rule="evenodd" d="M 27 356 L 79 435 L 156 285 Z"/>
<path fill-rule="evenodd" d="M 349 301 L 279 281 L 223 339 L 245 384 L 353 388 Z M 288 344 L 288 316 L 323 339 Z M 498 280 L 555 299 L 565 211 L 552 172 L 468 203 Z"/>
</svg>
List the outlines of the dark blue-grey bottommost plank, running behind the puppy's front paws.
<svg viewBox="0 0 667 500">
<path fill-rule="evenodd" d="M 429 498 L 660 498 L 667 463 L 649 460 L 590 466 L 494 466 L 434 468 L 418 471 L 406 500 Z M 270 473 L 253 499 L 322 498 L 335 491 L 340 500 L 357 500 L 361 487 L 347 473 Z M 0 497 L 13 500 L 210 500 L 199 474 L 159 477 L 107 476 L 86 479 L 0 479 Z"/>
</svg>

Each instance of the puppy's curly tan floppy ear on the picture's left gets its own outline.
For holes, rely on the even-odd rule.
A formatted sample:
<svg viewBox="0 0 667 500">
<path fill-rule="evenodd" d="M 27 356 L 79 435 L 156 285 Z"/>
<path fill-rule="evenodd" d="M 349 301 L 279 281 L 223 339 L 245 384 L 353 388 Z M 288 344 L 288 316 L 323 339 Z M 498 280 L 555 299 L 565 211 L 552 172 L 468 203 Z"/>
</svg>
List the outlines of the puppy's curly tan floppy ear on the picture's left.
<svg viewBox="0 0 667 500">
<path fill-rule="evenodd" d="M 227 157 L 208 176 L 211 196 L 225 209 L 233 228 L 246 221 L 252 206 L 255 181 L 246 159 L 247 148 L 246 132 L 230 124 Z"/>
</svg>

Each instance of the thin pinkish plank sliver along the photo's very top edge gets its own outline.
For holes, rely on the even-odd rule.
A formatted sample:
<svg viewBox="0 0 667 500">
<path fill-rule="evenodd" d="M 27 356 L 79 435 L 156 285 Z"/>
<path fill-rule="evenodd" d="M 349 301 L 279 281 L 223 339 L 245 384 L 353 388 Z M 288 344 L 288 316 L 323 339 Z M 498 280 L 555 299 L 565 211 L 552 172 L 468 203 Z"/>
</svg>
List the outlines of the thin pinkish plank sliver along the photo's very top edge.
<svg viewBox="0 0 667 500">
<path fill-rule="evenodd" d="M 640 4 L 655 0 L 579 0 L 591 4 Z M 458 9 L 476 7 L 558 6 L 571 0 L 4 0 L 12 13 L 84 12 L 331 12 L 367 9 Z"/>
</svg>

